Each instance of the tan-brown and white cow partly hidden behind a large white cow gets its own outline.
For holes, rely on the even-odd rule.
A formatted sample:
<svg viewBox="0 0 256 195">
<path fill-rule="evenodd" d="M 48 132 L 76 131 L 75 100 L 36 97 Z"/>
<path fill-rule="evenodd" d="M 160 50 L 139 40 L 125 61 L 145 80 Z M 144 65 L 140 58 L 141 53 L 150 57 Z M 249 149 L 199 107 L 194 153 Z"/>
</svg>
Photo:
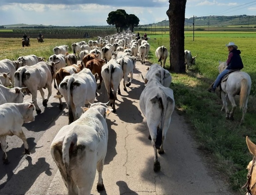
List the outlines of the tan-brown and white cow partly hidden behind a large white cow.
<svg viewBox="0 0 256 195">
<path fill-rule="evenodd" d="M 54 96 L 54 97 L 59 98 L 59 100 L 60 100 L 60 109 L 63 108 L 63 103 L 62 103 L 62 99 L 61 99 L 62 94 L 59 91 L 59 85 L 60 85 L 61 81 L 64 79 L 65 76 L 68 76 L 68 75 L 71 75 L 71 74 L 74 74 L 74 73 L 79 73 L 83 68 L 84 68 L 84 66 L 81 65 L 81 64 L 78 64 L 78 65 L 73 64 L 73 65 L 61 68 L 56 73 L 56 82 L 57 82 L 57 85 L 58 85 L 58 92 L 57 92 L 57 95 Z"/>
</svg>

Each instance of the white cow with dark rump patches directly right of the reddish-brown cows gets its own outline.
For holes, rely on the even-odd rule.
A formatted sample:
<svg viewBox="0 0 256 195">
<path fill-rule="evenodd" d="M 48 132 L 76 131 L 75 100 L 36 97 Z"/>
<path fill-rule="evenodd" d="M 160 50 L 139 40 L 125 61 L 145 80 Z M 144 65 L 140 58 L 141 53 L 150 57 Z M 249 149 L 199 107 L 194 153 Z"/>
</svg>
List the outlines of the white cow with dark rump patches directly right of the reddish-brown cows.
<svg viewBox="0 0 256 195">
<path fill-rule="evenodd" d="M 113 109 L 113 113 L 116 112 L 115 100 L 116 92 L 121 95 L 120 92 L 120 82 L 123 78 L 122 67 L 117 63 L 115 59 L 111 59 L 107 64 L 102 66 L 101 76 L 104 80 L 105 87 L 108 93 L 108 98 L 110 99 L 110 104 Z M 113 89 L 113 91 L 112 91 Z"/>
</svg>

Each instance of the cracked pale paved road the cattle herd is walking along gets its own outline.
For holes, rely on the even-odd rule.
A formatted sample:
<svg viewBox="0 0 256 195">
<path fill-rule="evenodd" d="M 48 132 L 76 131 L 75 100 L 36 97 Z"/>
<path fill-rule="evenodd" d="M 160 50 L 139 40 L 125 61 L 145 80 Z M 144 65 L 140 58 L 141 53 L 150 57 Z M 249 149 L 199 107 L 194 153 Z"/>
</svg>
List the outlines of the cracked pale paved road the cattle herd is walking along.
<svg viewBox="0 0 256 195">
<path fill-rule="evenodd" d="M 226 183 L 219 180 L 197 151 L 190 136 L 189 126 L 174 112 L 167 133 L 164 155 L 160 156 L 161 171 L 153 171 L 153 147 L 148 140 L 145 117 L 139 108 L 139 97 L 144 88 L 141 74 L 146 74 L 149 63 L 136 64 L 134 80 L 128 92 L 117 95 L 116 113 L 107 119 L 108 149 L 103 170 L 105 190 L 93 195 L 231 195 Z M 103 84 L 103 83 L 102 83 Z M 53 94 L 56 94 L 54 90 Z M 96 101 L 107 102 L 102 85 Z M 46 92 L 47 95 L 47 92 Z M 175 94 L 174 94 L 175 95 Z M 40 95 L 39 95 L 40 97 Z M 31 96 L 26 99 L 31 100 Z M 42 100 L 38 101 L 42 105 Z M 56 195 L 67 194 L 60 172 L 50 154 L 50 145 L 68 123 L 67 109 L 59 110 L 59 100 L 53 96 L 35 122 L 24 124 L 31 155 L 23 155 L 22 141 L 7 137 L 9 165 L 0 163 L 0 195 Z M 35 114 L 36 115 L 36 114 Z"/>
</svg>

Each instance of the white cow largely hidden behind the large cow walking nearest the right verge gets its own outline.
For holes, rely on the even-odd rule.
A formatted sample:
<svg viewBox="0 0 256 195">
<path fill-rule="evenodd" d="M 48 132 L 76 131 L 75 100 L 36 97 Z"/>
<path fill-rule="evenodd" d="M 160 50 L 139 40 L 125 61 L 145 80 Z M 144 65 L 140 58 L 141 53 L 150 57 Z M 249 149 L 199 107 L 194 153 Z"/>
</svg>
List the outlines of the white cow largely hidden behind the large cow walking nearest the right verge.
<svg viewBox="0 0 256 195">
<path fill-rule="evenodd" d="M 172 76 L 169 71 L 159 66 L 159 64 L 152 64 L 146 74 L 146 78 L 143 79 L 147 84 L 148 80 L 151 78 L 156 78 L 165 87 L 170 87 L 172 82 Z"/>
</svg>

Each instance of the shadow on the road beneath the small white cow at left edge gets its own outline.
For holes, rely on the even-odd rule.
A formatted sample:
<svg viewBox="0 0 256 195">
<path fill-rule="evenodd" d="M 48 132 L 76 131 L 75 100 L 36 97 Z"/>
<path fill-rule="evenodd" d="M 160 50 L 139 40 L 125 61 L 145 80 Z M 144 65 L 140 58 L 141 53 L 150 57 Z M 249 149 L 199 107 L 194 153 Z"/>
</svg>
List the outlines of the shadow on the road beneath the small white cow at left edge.
<svg viewBox="0 0 256 195">
<path fill-rule="evenodd" d="M 6 141 L 8 142 L 8 137 L 6 138 Z M 15 136 L 17 137 L 17 136 Z M 13 142 L 22 142 L 20 138 L 17 137 L 17 140 L 13 140 Z M 29 145 L 29 149 L 31 153 L 34 153 L 35 146 L 37 145 L 35 143 L 35 138 L 34 137 L 29 137 L 27 138 L 27 142 Z M 8 143 L 8 145 L 12 145 L 13 143 Z M 10 146 L 11 147 L 11 146 Z M 13 147 L 13 146 L 12 146 Z M 25 154 L 25 148 L 24 144 L 22 144 L 21 147 L 18 148 L 12 148 L 11 150 L 8 151 L 8 148 L 6 150 L 9 164 L 4 165 L 2 162 L 0 162 L 0 189 L 2 189 L 5 184 L 11 179 L 11 177 L 14 175 L 13 170 L 15 170 L 18 166 L 19 163 L 22 163 L 25 160 L 25 157 L 27 156 Z M 6 179 L 3 179 L 6 176 Z M 2 180 L 3 179 L 3 180 Z M 5 180 L 5 181 L 4 181 Z"/>
</svg>

